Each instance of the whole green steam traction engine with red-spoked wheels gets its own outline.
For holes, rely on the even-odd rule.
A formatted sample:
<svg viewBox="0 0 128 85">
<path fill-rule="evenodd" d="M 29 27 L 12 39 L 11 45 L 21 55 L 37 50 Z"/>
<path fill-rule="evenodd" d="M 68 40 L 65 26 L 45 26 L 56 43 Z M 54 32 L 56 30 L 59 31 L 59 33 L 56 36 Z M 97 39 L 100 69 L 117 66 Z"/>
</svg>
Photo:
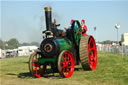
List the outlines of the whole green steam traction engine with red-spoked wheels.
<svg viewBox="0 0 128 85">
<path fill-rule="evenodd" d="M 30 56 L 29 70 L 34 77 L 41 77 L 46 67 L 62 77 L 71 77 L 75 65 L 82 65 L 84 70 L 94 70 L 97 65 L 97 50 L 92 36 L 82 36 L 79 21 L 75 20 L 72 29 L 63 32 L 52 24 L 51 8 L 45 9 L 46 31 L 40 48 Z M 81 34 L 79 33 L 81 32 Z"/>
</svg>

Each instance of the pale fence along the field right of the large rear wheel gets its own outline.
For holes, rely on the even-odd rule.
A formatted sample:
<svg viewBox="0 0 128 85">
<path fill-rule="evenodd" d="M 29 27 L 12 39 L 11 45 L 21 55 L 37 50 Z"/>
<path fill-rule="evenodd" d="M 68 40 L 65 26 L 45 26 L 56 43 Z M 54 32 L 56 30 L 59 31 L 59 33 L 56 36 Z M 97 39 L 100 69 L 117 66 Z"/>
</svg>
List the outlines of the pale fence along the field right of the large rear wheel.
<svg viewBox="0 0 128 85">
<path fill-rule="evenodd" d="M 128 55 L 128 46 L 97 46 L 98 51 Z"/>
</svg>

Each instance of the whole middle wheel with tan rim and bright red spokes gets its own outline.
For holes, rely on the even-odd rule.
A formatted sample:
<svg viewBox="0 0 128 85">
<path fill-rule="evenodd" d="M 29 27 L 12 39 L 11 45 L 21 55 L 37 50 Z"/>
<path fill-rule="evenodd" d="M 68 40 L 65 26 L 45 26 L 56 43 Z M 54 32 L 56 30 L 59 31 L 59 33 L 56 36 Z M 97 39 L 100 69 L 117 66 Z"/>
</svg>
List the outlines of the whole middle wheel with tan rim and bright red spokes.
<svg viewBox="0 0 128 85">
<path fill-rule="evenodd" d="M 58 71 L 62 77 L 71 77 L 74 72 L 74 56 L 70 51 L 62 51 L 58 57 Z"/>
</svg>

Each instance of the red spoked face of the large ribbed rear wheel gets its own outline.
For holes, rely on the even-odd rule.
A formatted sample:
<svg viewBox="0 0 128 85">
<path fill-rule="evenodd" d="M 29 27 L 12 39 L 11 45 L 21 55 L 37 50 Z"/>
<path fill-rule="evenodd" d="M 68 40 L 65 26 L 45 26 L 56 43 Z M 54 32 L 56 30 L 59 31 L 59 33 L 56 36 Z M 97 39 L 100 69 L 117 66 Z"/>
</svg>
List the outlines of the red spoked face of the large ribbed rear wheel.
<svg viewBox="0 0 128 85">
<path fill-rule="evenodd" d="M 90 37 L 88 41 L 88 57 L 89 57 L 90 68 L 92 70 L 96 69 L 97 49 L 96 49 L 96 43 L 93 37 Z"/>
</svg>

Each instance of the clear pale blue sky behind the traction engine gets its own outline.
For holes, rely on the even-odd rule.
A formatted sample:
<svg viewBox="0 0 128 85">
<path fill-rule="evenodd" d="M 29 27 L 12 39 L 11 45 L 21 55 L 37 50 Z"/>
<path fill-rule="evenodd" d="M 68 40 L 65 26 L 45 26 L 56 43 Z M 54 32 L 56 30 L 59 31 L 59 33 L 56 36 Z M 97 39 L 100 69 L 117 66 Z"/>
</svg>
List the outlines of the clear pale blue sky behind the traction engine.
<svg viewBox="0 0 128 85">
<path fill-rule="evenodd" d="M 119 23 L 119 36 L 128 33 L 128 1 L 42 1 L 6 0 L 0 2 L 0 38 L 17 38 L 20 42 L 42 41 L 45 30 L 44 7 L 52 7 L 52 19 L 61 24 L 59 29 L 70 25 L 70 20 L 85 19 L 87 34 L 97 41 L 117 40 L 114 25 Z M 94 27 L 96 26 L 96 31 Z M 119 37 L 120 38 L 120 37 Z M 119 39 L 120 40 L 120 39 Z"/>
</svg>

